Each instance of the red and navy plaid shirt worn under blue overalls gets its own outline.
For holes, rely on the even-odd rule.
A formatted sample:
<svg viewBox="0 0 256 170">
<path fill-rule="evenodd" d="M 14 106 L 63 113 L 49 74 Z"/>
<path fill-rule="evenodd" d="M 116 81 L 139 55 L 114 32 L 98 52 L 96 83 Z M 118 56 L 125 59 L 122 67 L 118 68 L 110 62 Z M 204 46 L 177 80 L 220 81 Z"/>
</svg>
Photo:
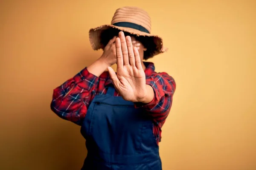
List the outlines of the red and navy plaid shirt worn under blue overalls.
<svg viewBox="0 0 256 170">
<path fill-rule="evenodd" d="M 161 139 L 161 127 L 172 106 L 172 96 L 176 84 L 175 80 L 167 73 L 156 73 L 153 63 L 144 62 L 144 64 L 146 66 L 146 84 L 153 88 L 154 99 L 147 104 L 136 102 L 134 107 L 142 107 L 150 114 L 154 122 L 153 133 L 158 143 Z M 87 68 L 84 68 L 54 89 L 51 109 L 62 119 L 81 125 L 94 96 L 106 94 L 107 87 L 111 84 L 112 80 L 108 71 L 102 73 L 100 77 L 96 77 L 90 74 Z M 70 91 L 70 89 L 72 90 Z M 69 94 L 67 94 L 68 92 Z M 119 96 L 117 91 L 114 96 Z"/>
</svg>

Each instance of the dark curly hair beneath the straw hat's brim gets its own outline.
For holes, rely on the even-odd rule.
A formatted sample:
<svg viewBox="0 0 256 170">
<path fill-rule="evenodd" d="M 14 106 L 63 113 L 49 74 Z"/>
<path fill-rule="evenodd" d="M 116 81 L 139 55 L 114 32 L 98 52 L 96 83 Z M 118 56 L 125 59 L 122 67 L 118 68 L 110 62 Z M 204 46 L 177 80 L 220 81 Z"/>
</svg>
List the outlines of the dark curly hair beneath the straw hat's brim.
<svg viewBox="0 0 256 170">
<path fill-rule="evenodd" d="M 105 46 L 108 44 L 109 40 L 111 40 L 114 36 L 118 36 L 118 33 L 120 32 L 117 28 L 110 28 L 102 31 L 102 34 L 100 35 L 100 40 L 102 44 L 102 48 L 105 48 Z M 125 36 L 132 36 L 137 41 L 140 41 L 145 48 L 147 48 L 146 51 L 144 51 L 144 57 L 143 59 L 147 60 L 149 58 L 153 57 L 154 51 L 156 50 L 156 45 L 154 43 L 153 37 L 147 37 L 147 36 L 137 36 L 136 34 L 131 34 L 124 31 Z"/>
</svg>

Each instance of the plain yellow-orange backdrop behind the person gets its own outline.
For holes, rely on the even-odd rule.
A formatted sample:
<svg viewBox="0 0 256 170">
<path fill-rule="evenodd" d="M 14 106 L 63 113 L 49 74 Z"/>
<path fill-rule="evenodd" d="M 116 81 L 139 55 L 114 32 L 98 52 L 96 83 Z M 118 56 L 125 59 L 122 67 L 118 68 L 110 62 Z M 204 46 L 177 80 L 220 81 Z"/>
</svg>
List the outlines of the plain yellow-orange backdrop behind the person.
<svg viewBox="0 0 256 170">
<path fill-rule="evenodd" d="M 149 61 L 175 78 L 163 170 L 256 169 L 256 3 L 251 0 L 1 0 L 0 169 L 79 170 L 79 126 L 50 110 L 55 87 L 94 62 L 92 27 L 139 6 L 169 47 Z"/>
</svg>

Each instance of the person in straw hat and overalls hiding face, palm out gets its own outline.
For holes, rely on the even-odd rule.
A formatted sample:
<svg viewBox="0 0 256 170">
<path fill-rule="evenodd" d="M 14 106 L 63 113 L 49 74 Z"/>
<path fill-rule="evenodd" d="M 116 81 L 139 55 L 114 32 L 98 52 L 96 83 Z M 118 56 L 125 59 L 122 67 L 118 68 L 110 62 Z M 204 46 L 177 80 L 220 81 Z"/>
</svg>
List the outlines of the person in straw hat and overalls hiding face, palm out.
<svg viewBox="0 0 256 170">
<path fill-rule="evenodd" d="M 150 29 L 142 9 L 117 9 L 111 25 L 89 31 L 102 56 L 53 92 L 52 111 L 80 125 L 86 139 L 82 170 L 162 169 L 158 142 L 176 86 L 143 62 L 167 50 Z"/>
</svg>

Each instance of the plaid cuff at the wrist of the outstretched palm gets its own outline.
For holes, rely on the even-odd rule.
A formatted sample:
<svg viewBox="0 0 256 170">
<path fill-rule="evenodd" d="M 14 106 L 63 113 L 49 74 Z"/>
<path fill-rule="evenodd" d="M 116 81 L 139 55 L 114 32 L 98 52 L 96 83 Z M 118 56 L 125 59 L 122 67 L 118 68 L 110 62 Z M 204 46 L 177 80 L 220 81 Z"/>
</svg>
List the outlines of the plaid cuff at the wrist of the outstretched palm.
<svg viewBox="0 0 256 170">
<path fill-rule="evenodd" d="M 157 89 L 157 86 L 155 85 L 155 82 L 154 81 L 147 81 L 146 80 L 146 85 L 150 85 L 152 88 L 153 88 L 153 91 L 154 91 L 154 98 L 152 99 L 151 102 L 149 103 L 143 103 L 143 102 L 134 102 L 134 107 L 135 108 L 152 108 L 152 105 L 157 105 L 158 101 L 160 100 L 160 93 Z"/>
</svg>

